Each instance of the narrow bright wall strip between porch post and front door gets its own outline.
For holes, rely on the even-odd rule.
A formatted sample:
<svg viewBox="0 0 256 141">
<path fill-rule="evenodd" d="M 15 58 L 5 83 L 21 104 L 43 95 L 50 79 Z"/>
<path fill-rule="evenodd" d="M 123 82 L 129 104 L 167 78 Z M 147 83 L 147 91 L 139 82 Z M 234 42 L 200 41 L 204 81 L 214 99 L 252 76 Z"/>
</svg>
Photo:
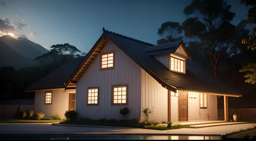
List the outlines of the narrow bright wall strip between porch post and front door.
<svg viewBox="0 0 256 141">
<path fill-rule="evenodd" d="M 171 122 L 179 121 L 178 99 L 179 97 L 171 96 Z"/>
</svg>

